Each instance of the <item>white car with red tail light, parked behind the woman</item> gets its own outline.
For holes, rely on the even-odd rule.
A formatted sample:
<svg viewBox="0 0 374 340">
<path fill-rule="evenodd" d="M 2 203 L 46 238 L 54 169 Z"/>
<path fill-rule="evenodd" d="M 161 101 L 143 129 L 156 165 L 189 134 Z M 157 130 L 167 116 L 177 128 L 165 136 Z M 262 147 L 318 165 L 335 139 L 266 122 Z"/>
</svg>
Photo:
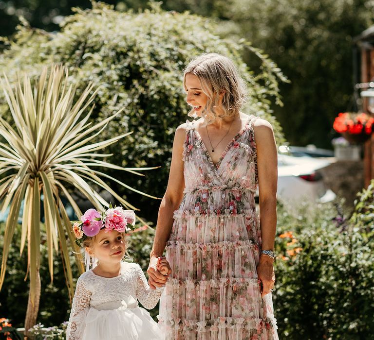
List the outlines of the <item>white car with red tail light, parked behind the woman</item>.
<svg viewBox="0 0 374 340">
<path fill-rule="evenodd" d="M 336 194 L 325 187 L 318 170 L 330 165 L 330 160 L 310 156 L 295 157 L 278 154 L 277 199 L 282 203 L 301 201 L 331 202 Z M 258 192 L 256 193 L 258 196 Z"/>
</svg>

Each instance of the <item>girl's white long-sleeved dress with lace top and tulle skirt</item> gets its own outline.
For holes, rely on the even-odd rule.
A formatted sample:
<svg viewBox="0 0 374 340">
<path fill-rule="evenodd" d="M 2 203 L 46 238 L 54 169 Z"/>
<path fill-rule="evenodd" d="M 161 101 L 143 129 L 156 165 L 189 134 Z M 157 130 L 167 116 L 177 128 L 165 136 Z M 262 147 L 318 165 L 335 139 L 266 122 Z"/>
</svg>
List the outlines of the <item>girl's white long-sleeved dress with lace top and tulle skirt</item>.
<svg viewBox="0 0 374 340">
<path fill-rule="evenodd" d="M 136 263 L 121 262 L 121 275 L 107 278 L 92 270 L 77 283 L 67 340 L 160 340 L 157 323 L 147 309 L 156 306 L 163 288 L 150 289 Z"/>
</svg>

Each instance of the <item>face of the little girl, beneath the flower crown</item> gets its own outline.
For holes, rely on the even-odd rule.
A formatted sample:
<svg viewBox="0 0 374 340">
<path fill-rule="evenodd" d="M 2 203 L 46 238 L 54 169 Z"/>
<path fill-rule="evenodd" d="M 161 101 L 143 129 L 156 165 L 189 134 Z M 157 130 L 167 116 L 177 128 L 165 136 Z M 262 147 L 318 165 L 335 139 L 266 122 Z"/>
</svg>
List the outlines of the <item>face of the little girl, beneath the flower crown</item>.
<svg viewBox="0 0 374 340">
<path fill-rule="evenodd" d="M 101 229 L 95 237 L 93 247 L 87 247 L 86 250 L 89 255 L 95 256 L 99 263 L 118 263 L 126 252 L 125 240 L 123 235 L 114 229 L 108 233 Z"/>
</svg>

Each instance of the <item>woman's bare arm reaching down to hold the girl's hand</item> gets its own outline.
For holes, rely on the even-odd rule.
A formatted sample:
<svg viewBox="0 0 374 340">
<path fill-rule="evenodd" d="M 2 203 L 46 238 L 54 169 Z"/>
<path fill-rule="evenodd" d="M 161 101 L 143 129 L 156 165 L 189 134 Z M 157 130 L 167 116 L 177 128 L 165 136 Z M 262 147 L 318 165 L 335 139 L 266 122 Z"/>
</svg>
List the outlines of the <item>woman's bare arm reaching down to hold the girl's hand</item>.
<svg viewBox="0 0 374 340">
<path fill-rule="evenodd" d="M 175 131 L 168 187 L 158 211 L 156 234 L 150 252 L 150 266 L 147 271 L 149 275 L 148 282 L 153 289 L 165 285 L 168 278 L 168 276 L 157 272 L 157 258 L 164 253 L 173 225 L 173 212 L 178 208 L 183 198 L 185 188 L 183 143 L 186 138 L 186 128 L 186 124 L 182 124 Z"/>
</svg>

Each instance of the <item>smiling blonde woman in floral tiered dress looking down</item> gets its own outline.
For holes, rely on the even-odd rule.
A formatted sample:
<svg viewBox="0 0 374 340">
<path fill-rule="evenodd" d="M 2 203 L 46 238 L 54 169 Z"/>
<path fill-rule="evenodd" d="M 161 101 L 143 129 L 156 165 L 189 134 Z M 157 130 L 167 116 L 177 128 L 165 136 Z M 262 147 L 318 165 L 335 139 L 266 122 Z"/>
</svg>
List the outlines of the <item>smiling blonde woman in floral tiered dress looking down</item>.
<svg viewBox="0 0 374 340">
<path fill-rule="evenodd" d="M 166 340 L 278 339 L 274 287 L 277 151 L 271 125 L 240 112 L 245 84 L 232 61 L 192 60 L 184 74 L 190 116 L 175 133 L 148 269 Z M 254 193 L 259 187 L 261 218 Z"/>
</svg>

